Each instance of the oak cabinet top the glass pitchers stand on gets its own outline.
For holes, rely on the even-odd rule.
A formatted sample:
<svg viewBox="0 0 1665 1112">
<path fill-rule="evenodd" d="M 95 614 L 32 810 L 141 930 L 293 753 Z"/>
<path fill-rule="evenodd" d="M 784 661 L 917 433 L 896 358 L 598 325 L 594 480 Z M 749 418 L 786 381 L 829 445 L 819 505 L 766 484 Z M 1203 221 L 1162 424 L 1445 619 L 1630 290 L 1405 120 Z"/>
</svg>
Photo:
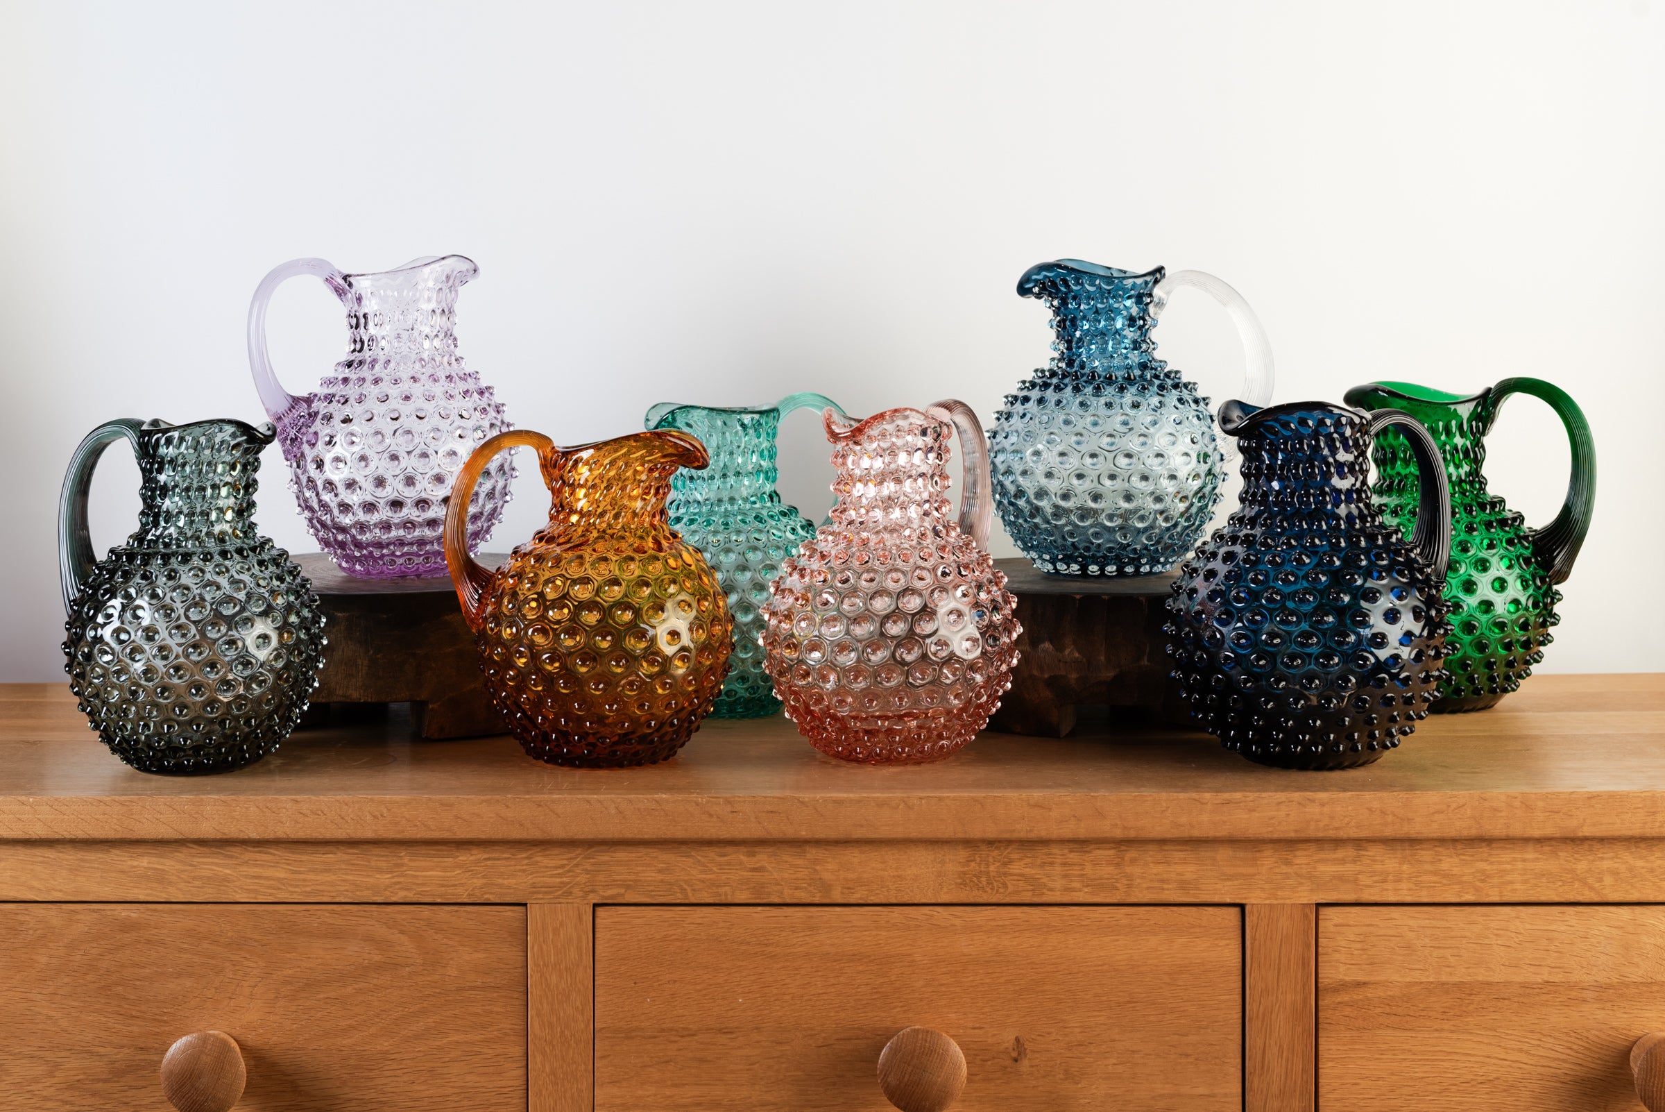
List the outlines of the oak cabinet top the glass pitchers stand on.
<svg viewBox="0 0 1665 1112">
<path fill-rule="evenodd" d="M 1250 764 L 1200 732 L 982 734 L 946 762 L 849 766 L 781 719 L 708 721 L 673 761 L 579 771 L 398 716 L 305 731 L 205 777 L 117 761 L 62 684 L 0 686 L 0 839 L 939 841 L 1665 836 L 1665 676 L 1538 676 L 1435 716 L 1380 762 Z"/>
</svg>

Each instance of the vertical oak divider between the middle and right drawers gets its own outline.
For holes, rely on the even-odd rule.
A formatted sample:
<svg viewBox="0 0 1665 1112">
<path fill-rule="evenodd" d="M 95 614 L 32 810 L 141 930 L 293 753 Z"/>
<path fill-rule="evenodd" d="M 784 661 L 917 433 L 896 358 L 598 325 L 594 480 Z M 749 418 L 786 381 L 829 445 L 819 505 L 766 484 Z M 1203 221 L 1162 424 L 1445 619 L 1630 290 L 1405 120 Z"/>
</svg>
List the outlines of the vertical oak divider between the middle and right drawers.
<svg viewBox="0 0 1665 1112">
<path fill-rule="evenodd" d="M 1244 907 L 1244 1110 L 1312 1112 L 1317 907 Z"/>
</svg>

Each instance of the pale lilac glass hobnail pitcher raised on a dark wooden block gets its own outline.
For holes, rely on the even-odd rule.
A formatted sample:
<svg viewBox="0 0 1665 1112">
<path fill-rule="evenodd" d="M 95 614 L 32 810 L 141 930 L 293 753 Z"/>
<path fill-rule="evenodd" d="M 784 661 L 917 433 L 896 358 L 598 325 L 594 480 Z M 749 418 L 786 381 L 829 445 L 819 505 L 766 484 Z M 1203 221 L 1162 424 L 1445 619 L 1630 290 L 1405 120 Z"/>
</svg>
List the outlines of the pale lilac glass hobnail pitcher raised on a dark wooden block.
<svg viewBox="0 0 1665 1112">
<path fill-rule="evenodd" d="M 461 255 L 343 275 L 321 258 L 283 263 L 248 306 L 248 363 L 278 426 L 306 528 L 341 571 L 388 579 L 445 574 L 445 508 L 470 453 L 513 428 L 456 353 L 456 291 L 480 273 Z M 266 303 L 295 275 L 316 275 L 346 306 L 346 358 L 310 395 L 278 385 Z M 514 469 L 486 468 L 470 503 L 468 548 L 503 516 Z"/>
</svg>

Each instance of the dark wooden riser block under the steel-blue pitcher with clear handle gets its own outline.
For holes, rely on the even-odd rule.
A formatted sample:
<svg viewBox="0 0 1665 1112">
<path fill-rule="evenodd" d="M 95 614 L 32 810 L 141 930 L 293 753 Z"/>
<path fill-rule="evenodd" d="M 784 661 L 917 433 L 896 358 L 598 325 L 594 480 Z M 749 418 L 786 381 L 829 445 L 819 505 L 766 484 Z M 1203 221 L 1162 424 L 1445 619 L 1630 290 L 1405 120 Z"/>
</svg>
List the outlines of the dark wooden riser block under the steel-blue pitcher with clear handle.
<svg viewBox="0 0 1665 1112">
<path fill-rule="evenodd" d="M 991 729 L 1064 737 L 1079 707 L 1137 709 L 1184 724 L 1170 693 L 1162 623 L 1177 573 L 1136 578 L 1049 576 L 1027 559 L 997 559 L 1017 596 L 1017 668 Z"/>
</svg>

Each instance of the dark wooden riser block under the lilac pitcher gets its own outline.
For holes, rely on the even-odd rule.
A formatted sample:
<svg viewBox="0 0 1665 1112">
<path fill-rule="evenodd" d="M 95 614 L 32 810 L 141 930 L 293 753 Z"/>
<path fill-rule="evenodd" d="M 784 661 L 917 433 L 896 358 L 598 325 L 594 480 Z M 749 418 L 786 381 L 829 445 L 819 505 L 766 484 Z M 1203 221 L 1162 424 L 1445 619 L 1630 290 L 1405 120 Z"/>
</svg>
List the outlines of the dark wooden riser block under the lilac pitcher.
<svg viewBox="0 0 1665 1112">
<path fill-rule="evenodd" d="M 411 721 L 423 737 L 504 732 L 480 681 L 475 634 L 448 578 L 355 579 L 321 553 L 293 559 L 311 579 L 330 641 L 313 707 L 410 702 Z M 496 568 L 504 558 L 478 559 Z"/>
</svg>

